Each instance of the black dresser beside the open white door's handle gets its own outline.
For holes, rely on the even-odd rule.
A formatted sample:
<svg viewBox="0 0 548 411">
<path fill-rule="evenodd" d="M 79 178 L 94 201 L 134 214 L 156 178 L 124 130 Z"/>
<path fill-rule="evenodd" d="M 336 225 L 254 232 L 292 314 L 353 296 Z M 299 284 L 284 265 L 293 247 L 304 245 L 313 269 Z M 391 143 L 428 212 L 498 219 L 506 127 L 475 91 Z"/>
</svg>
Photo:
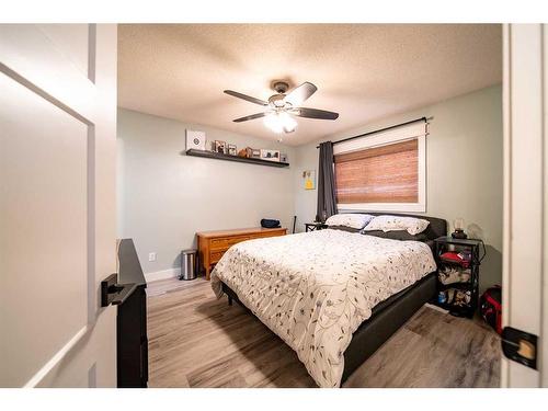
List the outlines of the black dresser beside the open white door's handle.
<svg viewBox="0 0 548 411">
<path fill-rule="evenodd" d="M 134 283 L 134 292 L 118 305 L 117 386 L 146 388 L 148 384 L 147 282 L 132 239 L 119 240 L 118 281 Z"/>
</svg>

